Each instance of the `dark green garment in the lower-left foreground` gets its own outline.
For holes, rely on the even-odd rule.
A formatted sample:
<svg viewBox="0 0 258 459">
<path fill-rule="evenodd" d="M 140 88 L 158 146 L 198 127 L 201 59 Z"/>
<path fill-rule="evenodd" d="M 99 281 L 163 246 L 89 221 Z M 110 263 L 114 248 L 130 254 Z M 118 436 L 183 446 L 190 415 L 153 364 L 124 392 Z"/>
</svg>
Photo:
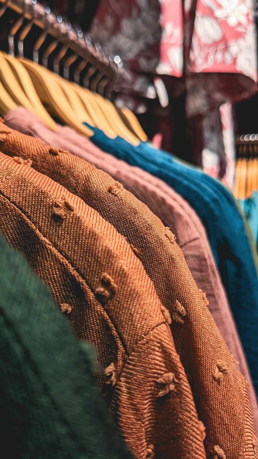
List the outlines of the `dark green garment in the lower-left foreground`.
<svg viewBox="0 0 258 459">
<path fill-rule="evenodd" d="M 131 458 L 95 384 L 94 352 L 0 235 L 0 457 Z"/>
</svg>

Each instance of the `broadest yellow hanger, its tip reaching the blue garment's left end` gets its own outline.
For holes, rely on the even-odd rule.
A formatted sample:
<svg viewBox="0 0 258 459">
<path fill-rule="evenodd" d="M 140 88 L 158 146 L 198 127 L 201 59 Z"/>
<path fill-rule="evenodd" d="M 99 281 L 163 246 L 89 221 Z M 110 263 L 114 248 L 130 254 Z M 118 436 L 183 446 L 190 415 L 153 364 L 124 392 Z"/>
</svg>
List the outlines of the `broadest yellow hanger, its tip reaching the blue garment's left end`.
<svg viewBox="0 0 258 459">
<path fill-rule="evenodd" d="M 91 137 L 94 134 L 93 131 L 79 122 L 53 73 L 28 59 L 22 58 L 20 62 L 28 70 L 39 99 L 48 107 L 48 111 L 55 114 L 63 123 L 76 129 L 80 134 Z"/>
</svg>

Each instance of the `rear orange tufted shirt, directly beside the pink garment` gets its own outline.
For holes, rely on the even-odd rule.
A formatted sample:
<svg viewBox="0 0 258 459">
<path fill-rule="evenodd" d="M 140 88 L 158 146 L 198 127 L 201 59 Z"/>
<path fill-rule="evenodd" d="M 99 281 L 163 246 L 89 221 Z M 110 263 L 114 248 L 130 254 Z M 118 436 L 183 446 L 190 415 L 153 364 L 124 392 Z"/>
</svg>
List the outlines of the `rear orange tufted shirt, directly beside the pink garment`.
<svg viewBox="0 0 258 459">
<path fill-rule="evenodd" d="M 6 138 L 1 149 L 5 153 L 11 155 L 15 151 L 23 159 L 30 159 L 34 168 L 49 174 L 94 206 L 126 236 L 132 252 L 140 258 L 162 300 L 163 317 L 167 323 L 171 322 L 199 419 L 206 428 L 207 453 L 219 445 L 227 459 L 256 457 L 247 383 L 236 370 L 235 359 L 208 311 L 204 294 L 192 279 L 174 234 L 105 172 L 62 151 L 53 155 L 52 149 L 39 141 L 8 131 L 4 125 L 3 129 Z M 135 282 L 139 286 L 139 276 Z M 144 390 L 142 385 L 141 390 Z M 164 425 L 166 422 L 164 417 Z"/>
</svg>

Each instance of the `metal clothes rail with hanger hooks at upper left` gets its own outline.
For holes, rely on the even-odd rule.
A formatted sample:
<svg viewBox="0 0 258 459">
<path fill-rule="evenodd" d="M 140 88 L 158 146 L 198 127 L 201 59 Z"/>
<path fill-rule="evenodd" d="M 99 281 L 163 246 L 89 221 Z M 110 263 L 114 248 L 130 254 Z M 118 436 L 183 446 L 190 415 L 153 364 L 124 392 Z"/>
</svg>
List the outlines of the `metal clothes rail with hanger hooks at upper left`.
<svg viewBox="0 0 258 459">
<path fill-rule="evenodd" d="M 101 95 L 108 96 L 123 72 L 119 56 L 108 56 L 88 33 L 37 0 L 0 0 L 3 29 L 6 35 L 1 33 L 0 49 L 32 59 Z M 3 41 L 8 42 L 7 49 Z"/>
</svg>

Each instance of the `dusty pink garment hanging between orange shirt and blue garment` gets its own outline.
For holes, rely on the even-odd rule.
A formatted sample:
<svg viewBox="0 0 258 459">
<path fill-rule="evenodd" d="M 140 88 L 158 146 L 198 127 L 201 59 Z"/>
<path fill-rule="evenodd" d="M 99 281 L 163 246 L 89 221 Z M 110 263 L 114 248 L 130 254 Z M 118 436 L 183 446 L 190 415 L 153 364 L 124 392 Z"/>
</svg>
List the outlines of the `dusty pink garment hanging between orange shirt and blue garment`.
<svg viewBox="0 0 258 459">
<path fill-rule="evenodd" d="M 239 361 L 239 370 L 248 381 L 250 373 L 236 325 L 230 311 L 222 282 L 216 268 L 208 238 L 201 220 L 185 200 L 162 180 L 130 166 L 93 145 L 73 129 L 60 126 L 54 133 L 23 107 L 17 107 L 5 117 L 6 124 L 44 143 L 70 151 L 96 167 L 105 170 L 127 190 L 144 202 L 177 236 L 177 243 L 202 291 L 206 292 L 209 310 L 230 352 Z M 258 405 L 252 383 L 249 387 L 253 415 L 258 430 Z"/>
</svg>

